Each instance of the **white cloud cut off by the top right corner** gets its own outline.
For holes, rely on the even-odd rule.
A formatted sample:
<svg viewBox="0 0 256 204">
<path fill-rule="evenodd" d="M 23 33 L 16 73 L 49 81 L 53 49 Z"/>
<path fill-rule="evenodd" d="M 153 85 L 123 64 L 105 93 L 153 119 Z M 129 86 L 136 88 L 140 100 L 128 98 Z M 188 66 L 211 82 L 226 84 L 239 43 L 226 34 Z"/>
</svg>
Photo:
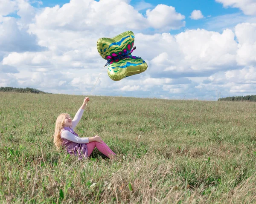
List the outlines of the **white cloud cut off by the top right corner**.
<svg viewBox="0 0 256 204">
<path fill-rule="evenodd" d="M 215 0 L 224 7 L 241 9 L 246 15 L 256 15 L 256 0 Z"/>
</svg>

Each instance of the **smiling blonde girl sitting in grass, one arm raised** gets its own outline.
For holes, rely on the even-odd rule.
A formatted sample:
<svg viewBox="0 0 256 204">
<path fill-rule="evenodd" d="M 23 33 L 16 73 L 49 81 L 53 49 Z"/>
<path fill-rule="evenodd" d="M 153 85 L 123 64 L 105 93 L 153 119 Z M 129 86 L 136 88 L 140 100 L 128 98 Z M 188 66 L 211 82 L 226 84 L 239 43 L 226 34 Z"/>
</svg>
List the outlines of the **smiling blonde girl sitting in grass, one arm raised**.
<svg viewBox="0 0 256 204">
<path fill-rule="evenodd" d="M 78 155 L 79 160 L 89 157 L 95 147 L 108 158 L 113 158 L 116 154 L 102 141 L 99 135 L 91 138 L 79 138 L 73 130 L 80 121 L 88 101 L 90 101 L 88 97 L 84 98 L 84 103 L 73 120 L 67 113 L 61 113 L 58 116 L 55 123 L 54 144 L 57 149 L 60 147 L 67 149 L 70 155 Z"/>
</svg>

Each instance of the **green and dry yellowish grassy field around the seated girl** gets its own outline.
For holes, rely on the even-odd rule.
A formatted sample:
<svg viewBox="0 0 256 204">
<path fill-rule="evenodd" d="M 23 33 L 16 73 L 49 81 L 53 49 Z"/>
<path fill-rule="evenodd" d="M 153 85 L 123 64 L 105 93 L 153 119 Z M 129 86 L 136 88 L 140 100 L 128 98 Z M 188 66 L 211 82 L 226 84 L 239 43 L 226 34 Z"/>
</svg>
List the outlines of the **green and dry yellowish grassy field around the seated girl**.
<svg viewBox="0 0 256 204">
<path fill-rule="evenodd" d="M 91 96 L 75 131 L 122 159 L 78 161 L 52 135 L 83 99 L 0 92 L 0 203 L 256 203 L 256 103 Z"/>
</svg>

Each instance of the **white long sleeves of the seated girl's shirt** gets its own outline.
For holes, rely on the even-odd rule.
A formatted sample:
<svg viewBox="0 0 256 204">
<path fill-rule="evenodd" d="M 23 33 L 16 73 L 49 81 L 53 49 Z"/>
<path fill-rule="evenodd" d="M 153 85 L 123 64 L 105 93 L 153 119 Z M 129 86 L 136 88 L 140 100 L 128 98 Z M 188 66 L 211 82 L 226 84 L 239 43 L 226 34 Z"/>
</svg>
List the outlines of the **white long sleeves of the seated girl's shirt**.
<svg viewBox="0 0 256 204">
<path fill-rule="evenodd" d="M 84 113 L 84 109 L 81 109 L 81 108 L 76 113 L 74 119 L 72 120 L 73 129 L 77 126 L 78 122 L 81 120 L 83 113 Z M 89 138 L 80 138 L 67 130 L 62 131 L 61 138 L 67 139 L 72 142 L 80 143 L 80 144 L 89 143 Z"/>
</svg>

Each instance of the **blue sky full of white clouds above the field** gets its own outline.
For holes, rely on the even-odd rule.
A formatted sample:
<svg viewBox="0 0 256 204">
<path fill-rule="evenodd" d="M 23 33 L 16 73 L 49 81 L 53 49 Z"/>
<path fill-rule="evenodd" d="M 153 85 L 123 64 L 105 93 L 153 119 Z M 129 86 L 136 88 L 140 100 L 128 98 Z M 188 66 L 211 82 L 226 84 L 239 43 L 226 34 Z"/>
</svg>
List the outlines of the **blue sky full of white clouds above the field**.
<svg viewBox="0 0 256 204">
<path fill-rule="evenodd" d="M 148 69 L 99 78 L 97 40 L 127 30 Z M 96 84 L 93 95 L 164 99 L 255 94 L 256 0 L 3 0 L 0 31 L 0 86 L 88 95 Z"/>
</svg>

